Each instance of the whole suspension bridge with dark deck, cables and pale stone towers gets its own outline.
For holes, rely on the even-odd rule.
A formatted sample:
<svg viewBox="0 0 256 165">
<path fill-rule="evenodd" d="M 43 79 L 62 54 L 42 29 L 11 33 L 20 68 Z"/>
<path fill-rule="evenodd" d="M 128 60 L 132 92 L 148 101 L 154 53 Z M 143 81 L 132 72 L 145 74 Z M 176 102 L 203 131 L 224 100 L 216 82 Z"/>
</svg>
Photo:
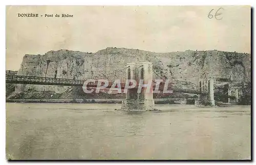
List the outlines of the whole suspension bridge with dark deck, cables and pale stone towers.
<svg viewBox="0 0 256 165">
<path fill-rule="evenodd" d="M 115 81 L 118 79 L 119 81 Z M 156 70 L 153 70 L 153 64 L 151 62 L 140 62 L 140 63 L 127 63 L 126 66 L 120 70 L 115 70 L 114 72 L 104 74 L 100 72 L 94 74 L 91 77 L 85 77 L 83 79 L 69 79 L 69 78 L 56 78 L 56 77 L 42 77 L 42 76 L 25 76 L 25 75 L 6 75 L 7 84 L 27 84 L 27 85 L 51 85 L 51 86 L 76 86 L 84 87 L 84 83 L 87 82 L 86 88 L 97 88 L 105 85 L 105 81 L 108 80 L 108 85 L 105 88 L 115 88 L 118 86 L 123 90 L 125 86 L 131 86 L 131 82 L 127 84 L 127 79 L 135 79 L 137 82 L 141 79 L 143 84 L 148 84 L 151 81 L 151 87 L 154 91 L 156 88 L 163 92 L 165 88 L 165 83 L 167 83 L 167 89 L 172 90 L 172 93 L 190 93 L 198 94 L 199 99 L 195 101 L 195 104 L 210 104 L 215 105 L 214 100 L 214 80 L 210 77 L 210 74 L 207 78 L 202 78 L 199 80 L 198 86 L 196 89 L 184 89 L 178 88 L 176 85 L 178 82 L 188 82 L 185 80 L 177 80 L 175 77 L 169 77 L 171 80 L 168 82 L 168 77 L 166 75 L 157 73 Z M 156 82 L 156 79 L 161 79 L 163 82 L 160 84 Z M 94 81 L 90 81 L 94 80 Z M 190 82 L 191 83 L 191 82 Z M 139 109 L 148 109 L 154 106 L 153 92 L 145 93 L 145 89 L 142 88 L 142 91 L 137 94 L 136 89 L 139 88 L 139 85 L 133 89 L 129 89 L 126 93 L 126 99 L 123 100 L 124 108 L 139 108 Z M 190 87 L 191 88 L 191 87 Z M 230 93 L 230 92 L 229 92 Z M 237 92 L 236 92 L 237 95 Z M 142 106 L 143 104 L 143 106 Z M 129 107 L 131 106 L 131 107 Z"/>
</svg>

